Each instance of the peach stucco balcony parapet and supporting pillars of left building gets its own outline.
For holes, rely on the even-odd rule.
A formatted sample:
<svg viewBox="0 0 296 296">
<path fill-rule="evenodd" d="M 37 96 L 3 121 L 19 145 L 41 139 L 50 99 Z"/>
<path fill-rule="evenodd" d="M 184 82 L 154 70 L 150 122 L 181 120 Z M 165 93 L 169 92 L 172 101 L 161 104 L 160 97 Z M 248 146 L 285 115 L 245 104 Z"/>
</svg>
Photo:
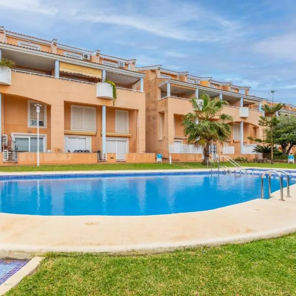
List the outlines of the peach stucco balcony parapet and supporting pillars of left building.
<svg viewBox="0 0 296 296">
<path fill-rule="evenodd" d="M 26 99 L 33 99 L 50 106 L 50 149 L 52 152 L 64 151 L 64 130 L 67 120 L 64 111 L 67 104 L 86 104 L 92 106 L 107 106 L 110 108 L 128 109 L 134 111 L 131 118 L 137 119 L 131 126 L 136 130 L 136 139 L 132 141 L 131 150 L 145 152 L 145 93 L 117 89 L 117 99 L 113 101 L 96 97 L 96 85 L 65 81 L 36 75 L 12 73 L 10 86 L 0 85 L 0 92 Z M 108 119 L 109 120 L 109 119 Z M 108 121 L 107 120 L 107 124 Z M 66 122 L 65 122 L 66 121 Z M 100 122 L 100 120 L 98 120 Z M 4 125 L 5 126 L 5 125 Z"/>
</svg>

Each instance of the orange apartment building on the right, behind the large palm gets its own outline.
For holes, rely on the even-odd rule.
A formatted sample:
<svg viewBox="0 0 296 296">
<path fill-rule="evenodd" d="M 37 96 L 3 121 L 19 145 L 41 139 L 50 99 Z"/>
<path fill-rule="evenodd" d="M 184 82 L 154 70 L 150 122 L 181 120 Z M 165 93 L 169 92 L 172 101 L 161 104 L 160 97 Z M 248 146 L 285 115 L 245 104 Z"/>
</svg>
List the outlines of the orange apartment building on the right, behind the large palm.
<svg viewBox="0 0 296 296">
<path fill-rule="evenodd" d="M 259 138 L 258 125 L 261 106 L 266 100 L 249 95 L 250 87 L 221 82 L 212 77 L 199 77 L 188 72 L 163 69 L 161 65 L 137 68 L 145 73 L 146 92 L 146 151 L 172 154 L 175 160 L 200 160 L 202 149 L 187 145 L 182 117 L 192 112 L 190 98 L 200 98 L 202 93 L 228 102 L 223 112 L 233 116 L 232 135 L 222 146 L 213 143 L 213 153 L 240 154 L 252 157 L 255 143 L 249 136 Z"/>
</svg>

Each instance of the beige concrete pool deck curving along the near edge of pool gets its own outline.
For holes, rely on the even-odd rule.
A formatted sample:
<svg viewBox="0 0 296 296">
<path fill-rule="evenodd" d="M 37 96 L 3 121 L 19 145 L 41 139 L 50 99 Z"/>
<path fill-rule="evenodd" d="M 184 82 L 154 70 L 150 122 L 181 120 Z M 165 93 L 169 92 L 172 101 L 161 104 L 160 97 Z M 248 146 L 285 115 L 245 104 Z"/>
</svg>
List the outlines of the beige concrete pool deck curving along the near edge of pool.
<svg viewBox="0 0 296 296">
<path fill-rule="evenodd" d="M 290 186 L 290 191 L 292 197 L 285 197 L 285 201 L 279 200 L 276 191 L 268 200 L 158 216 L 0 213 L 0 257 L 30 258 L 47 252 L 148 253 L 276 237 L 296 231 L 296 185 Z"/>
</svg>

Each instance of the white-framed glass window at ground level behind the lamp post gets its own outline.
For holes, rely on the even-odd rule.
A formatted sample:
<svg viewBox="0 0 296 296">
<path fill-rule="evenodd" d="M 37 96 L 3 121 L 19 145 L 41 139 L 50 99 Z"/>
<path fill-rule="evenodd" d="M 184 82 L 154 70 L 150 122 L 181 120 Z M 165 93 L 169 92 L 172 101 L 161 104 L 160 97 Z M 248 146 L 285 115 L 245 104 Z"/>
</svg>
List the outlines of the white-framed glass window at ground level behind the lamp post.
<svg viewBox="0 0 296 296">
<path fill-rule="evenodd" d="M 39 151 L 45 151 L 45 135 L 39 135 Z M 14 134 L 15 147 L 18 152 L 37 152 L 37 135 Z"/>
</svg>

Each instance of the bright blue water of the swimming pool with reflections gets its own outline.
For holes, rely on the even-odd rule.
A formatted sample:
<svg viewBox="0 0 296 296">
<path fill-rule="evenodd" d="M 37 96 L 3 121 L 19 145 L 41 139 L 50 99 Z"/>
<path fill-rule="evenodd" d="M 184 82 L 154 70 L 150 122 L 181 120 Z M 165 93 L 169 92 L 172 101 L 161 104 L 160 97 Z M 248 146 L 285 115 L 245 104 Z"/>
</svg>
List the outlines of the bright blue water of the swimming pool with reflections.
<svg viewBox="0 0 296 296">
<path fill-rule="evenodd" d="M 278 179 L 271 184 L 272 191 L 280 188 Z M 13 214 L 160 215 L 212 210 L 259 197 L 258 175 L 110 174 L 0 181 L 0 212 Z"/>
</svg>

